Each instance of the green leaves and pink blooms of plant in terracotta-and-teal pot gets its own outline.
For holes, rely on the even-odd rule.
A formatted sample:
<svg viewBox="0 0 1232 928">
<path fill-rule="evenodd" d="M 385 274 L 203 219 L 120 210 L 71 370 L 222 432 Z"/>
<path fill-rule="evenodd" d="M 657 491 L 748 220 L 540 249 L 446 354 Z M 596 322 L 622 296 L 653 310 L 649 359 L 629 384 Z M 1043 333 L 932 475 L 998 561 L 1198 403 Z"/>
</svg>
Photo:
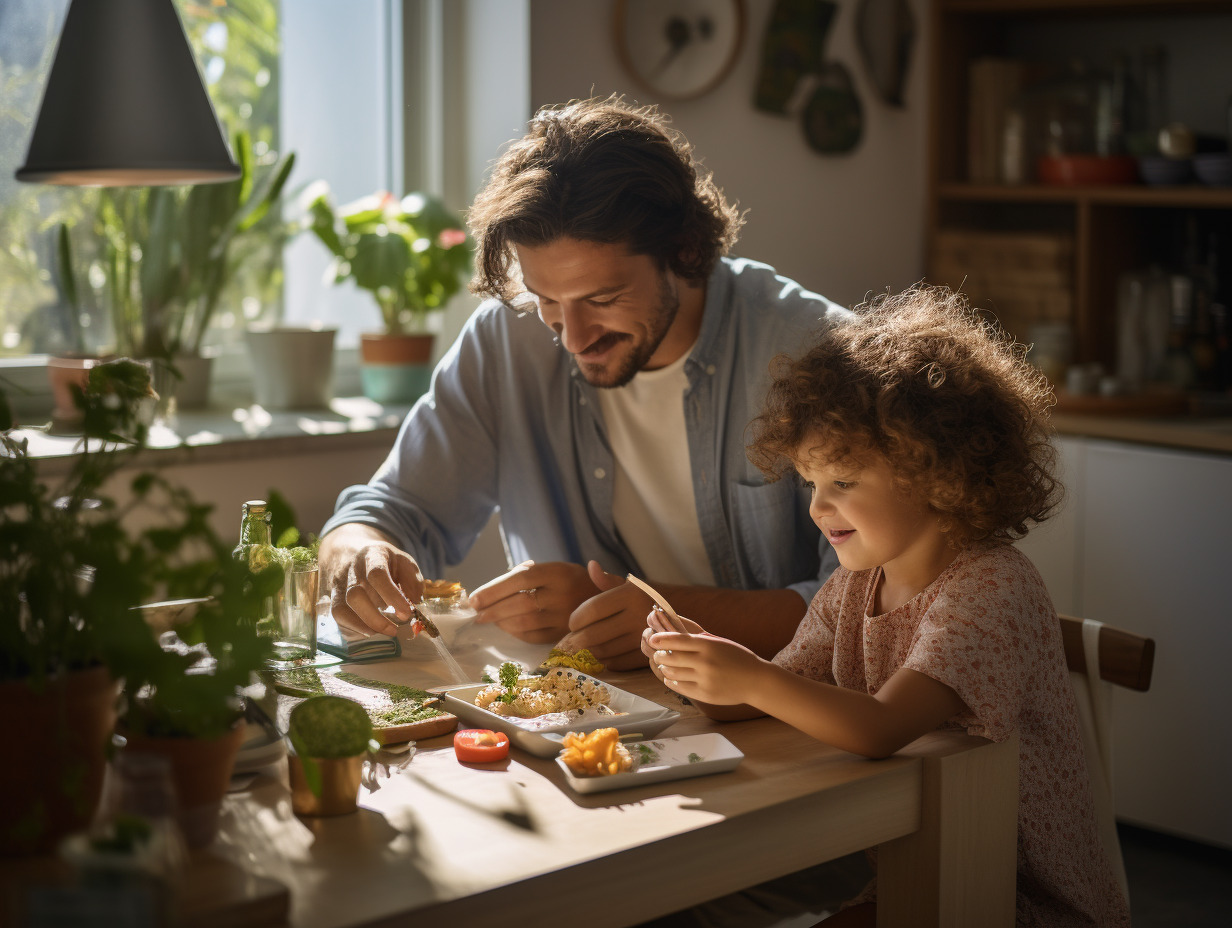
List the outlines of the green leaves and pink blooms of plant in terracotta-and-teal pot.
<svg viewBox="0 0 1232 928">
<path fill-rule="evenodd" d="M 423 193 L 366 196 L 335 208 L 328 185 L 309 187 L 308 227 L 334 255 L 334 281 L 372 293 L 388 334 L 426 332 L 471 269 L 462 221 Z"/>
</svg>

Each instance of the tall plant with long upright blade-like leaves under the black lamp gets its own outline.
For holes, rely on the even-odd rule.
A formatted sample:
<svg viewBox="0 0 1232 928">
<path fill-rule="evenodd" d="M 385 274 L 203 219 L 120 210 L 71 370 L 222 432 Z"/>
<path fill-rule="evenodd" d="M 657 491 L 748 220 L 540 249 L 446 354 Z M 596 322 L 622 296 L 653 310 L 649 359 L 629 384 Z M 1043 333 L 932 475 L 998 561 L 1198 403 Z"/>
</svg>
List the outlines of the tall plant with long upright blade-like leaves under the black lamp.
<svg viewBox="0 0 1232 928">
<path fill-rule="evenodd" d="M 67 229 L 58 246 L 62 292 L 75 312 L 108 308 L 118 355 L 155 361 L 155 387 L 181 408 L 206 405 L 211 359 L 203 354 L 224 287 L 255 249 L 253 237 L 282 238 L 271 217 L 294 154 L 260 169 L 246 132 L 234 139 L 240 176 L 225 184 L 99 191 L 87 248 Z M 244 245 L 249 239 L 249 246 Z M 80 238 L 79 238 L 80 240 Z M 85 267 L 76 253 L 87 254 Z"/>
</svg>

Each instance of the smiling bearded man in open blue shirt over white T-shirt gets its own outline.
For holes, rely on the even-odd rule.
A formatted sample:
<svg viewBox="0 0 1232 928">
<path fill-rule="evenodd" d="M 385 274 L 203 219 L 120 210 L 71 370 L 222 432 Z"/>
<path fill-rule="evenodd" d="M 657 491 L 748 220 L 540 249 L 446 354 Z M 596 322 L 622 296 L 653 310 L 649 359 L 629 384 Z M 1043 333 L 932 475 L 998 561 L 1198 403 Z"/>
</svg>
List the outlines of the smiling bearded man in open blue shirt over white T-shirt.
<svg viewBox="0 0 1232 928">
<path fill-rule="evenodd" d="M 837 562 L 744 430 L 771 360 L 846 311 L 722 258 L 742 222 L 655 110 L 537 113 L 468 214 L 472 290 L 494 298 L 323 530 L 339 624 L 393 633 L 499 508 L 517 566 L 471 594 L 482 622 L 642 667 L 632 572 L 717 635 L 786 645 Z"/>
</svg>

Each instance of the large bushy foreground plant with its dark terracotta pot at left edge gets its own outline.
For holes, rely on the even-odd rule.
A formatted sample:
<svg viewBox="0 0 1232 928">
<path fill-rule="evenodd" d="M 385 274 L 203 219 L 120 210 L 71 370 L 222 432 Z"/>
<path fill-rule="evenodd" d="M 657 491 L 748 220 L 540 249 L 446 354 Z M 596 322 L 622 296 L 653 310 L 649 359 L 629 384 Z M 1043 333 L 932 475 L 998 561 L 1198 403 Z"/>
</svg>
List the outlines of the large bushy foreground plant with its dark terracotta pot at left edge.
<svg viewBox="0 0 1232 928">
<path fill-rule="evenodd" d="M 129 730 L 229 727 L 235 688 L 269 648 L 253 604 L 281 584 L 281 568 L 254 578 L 234 562 L 209 507 L 158 474 L 138 473 L 123 504 L 108 495 L 145 444 L 155 397 L 144 365 L 97 365 L 74 394 L 83 439 L 49 482 L 0 391 L 0 700 L 12 759 L 0 791 L 23 800 L 0 807 L 0 853 L 47 850 L 89 821 L 121 683 Z M 191 653 L 164 648 L 138 609 L 182 595 L 209 598 L 179 632 Z"/>
</svg>

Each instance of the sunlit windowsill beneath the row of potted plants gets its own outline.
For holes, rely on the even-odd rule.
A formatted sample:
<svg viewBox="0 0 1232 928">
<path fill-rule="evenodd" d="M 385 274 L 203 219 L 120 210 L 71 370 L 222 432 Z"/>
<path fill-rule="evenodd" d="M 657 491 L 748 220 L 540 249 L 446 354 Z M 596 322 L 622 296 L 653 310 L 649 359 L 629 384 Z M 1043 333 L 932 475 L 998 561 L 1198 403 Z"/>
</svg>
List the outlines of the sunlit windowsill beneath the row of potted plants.
<svg viewBox="0 0 1232 928">
<path fill-rule="evenodd" d="M 212 408 L 179 413 L 156 421 L 136 467 L 209 463 L 245 457 L 326 451 L 356 444 L 389 446 L 410 407 L 382 405 L 367 397 L 340 397 L 329 409 L 266 410 L 250 401 L 228 403 L 216 398 Z M 68 470 L 80 435 L 52 435 L 22 429 L 28 454 L 39 460 L 39 472 Z"/>
</svg>

